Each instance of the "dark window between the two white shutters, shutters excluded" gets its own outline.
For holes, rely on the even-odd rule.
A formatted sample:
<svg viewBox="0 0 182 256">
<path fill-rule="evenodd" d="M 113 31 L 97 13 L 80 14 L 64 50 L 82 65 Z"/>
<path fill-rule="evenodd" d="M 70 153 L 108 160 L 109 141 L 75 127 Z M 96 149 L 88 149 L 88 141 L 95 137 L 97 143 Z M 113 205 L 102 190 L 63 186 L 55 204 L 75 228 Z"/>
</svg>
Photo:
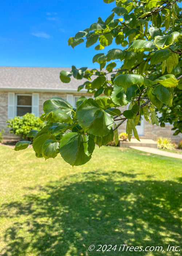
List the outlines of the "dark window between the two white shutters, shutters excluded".
<svg viewBox="0 0 182 256">
<path fill-rule="evenodd" d="M 16 116 L 32 113 L 32 95 L 16 95 Z"/>
</svg>

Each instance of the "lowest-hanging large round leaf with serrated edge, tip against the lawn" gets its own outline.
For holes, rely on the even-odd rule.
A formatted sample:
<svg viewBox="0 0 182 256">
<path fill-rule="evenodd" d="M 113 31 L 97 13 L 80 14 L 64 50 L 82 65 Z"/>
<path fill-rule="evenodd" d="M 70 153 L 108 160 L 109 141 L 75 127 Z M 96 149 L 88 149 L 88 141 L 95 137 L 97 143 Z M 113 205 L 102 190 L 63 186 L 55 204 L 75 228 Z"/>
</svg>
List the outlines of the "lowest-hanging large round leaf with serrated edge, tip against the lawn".
<svg viewBox="0 0 182 256">
<path fill-rule="evenodd" d="M 83 165 L 91 159 L 95 142 L 90 136 L 76 132 L 65 133 L 59 144 L 59 152 L 72 166 Z"/>
</svg>

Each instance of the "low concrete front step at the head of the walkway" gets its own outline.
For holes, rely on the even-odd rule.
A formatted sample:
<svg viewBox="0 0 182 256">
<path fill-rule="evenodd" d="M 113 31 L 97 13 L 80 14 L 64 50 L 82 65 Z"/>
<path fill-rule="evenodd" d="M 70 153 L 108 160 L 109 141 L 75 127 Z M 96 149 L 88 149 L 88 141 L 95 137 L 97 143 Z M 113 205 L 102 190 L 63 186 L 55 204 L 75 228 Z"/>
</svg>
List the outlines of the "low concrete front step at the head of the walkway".
<svg viewBox="0 0 182 256">
<path fill-rule="evenodd" d="M 152 147 L 157 148 L 157 142 L 151 139 L 141 139 L 140 142 L 135 139 L 131 138 L 131 142 L 127 141 L 120 141 L 119 146 L 120 147 Z"/>
</svg>

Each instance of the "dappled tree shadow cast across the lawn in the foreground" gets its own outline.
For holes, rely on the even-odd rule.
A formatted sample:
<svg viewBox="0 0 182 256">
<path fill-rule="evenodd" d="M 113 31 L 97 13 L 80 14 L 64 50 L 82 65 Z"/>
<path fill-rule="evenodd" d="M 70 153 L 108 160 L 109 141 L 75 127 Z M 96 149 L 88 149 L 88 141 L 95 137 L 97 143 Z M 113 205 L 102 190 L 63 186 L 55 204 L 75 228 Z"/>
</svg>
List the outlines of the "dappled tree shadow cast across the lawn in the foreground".
<svg viewBox="0 0 182 256">
<path fill-rule="evenodd" d="M 0 255 L 98 256 L 103 255 L 96 252 L 99 244 L 118 245 L 104 255 L 161 255 L 161 251 L 119 252 L 121 244 L 163 246 L 163 254 L 171 255 L 168 245 L 181 244 L 182 186 L 132 177 L 127 182 L 105 175 L 103 181 L 87 173 L 86 181 L 62 185 L 60 180 L 27 188 L 23 202 L 1 207 L 1 217 L 16 216 L 19 221 L 3 234 L 6 246 Z M 92 244 L 96 249 L 89 252 Z"/>
</svg>

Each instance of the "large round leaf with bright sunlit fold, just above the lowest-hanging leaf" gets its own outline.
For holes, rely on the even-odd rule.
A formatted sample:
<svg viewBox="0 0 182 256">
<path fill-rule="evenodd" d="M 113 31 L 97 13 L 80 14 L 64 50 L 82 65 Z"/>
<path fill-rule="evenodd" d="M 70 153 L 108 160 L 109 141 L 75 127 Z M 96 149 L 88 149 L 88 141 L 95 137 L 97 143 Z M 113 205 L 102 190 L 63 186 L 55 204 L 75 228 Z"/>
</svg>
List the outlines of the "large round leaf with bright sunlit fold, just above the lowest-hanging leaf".
<svg viewBox="0 0 182 256">
<path fill-rule="evenodd" d="M 114 106 L 110 98 L 86 99 L 78 107 L 77 118 L 84 131 L 95 136 L 106 136 L 114 123 L 113 117 L 105 110 Z"/>
</svg>

